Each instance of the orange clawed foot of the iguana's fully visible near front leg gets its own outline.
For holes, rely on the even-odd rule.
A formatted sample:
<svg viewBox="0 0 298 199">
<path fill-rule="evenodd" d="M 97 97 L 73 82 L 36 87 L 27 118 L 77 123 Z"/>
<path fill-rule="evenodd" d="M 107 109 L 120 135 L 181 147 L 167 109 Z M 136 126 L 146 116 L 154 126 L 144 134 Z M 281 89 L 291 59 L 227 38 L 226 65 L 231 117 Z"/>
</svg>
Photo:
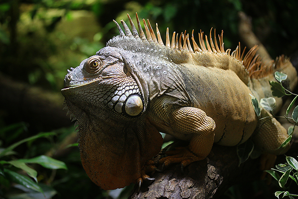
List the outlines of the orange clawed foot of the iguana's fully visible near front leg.
<svg viewBox="0 0 298 199">
<path fill-rule="evenodd" d="M 165 152 L 167 157 L 159 160 L 158 163 L 162 163 L 162 170 L 171 163 L 181 163 L 181 172 L 183 172 L 185 166 L 202 159 L 193 154 L 187 147 L 176 147 L 175 149 Z"/>
</svg>

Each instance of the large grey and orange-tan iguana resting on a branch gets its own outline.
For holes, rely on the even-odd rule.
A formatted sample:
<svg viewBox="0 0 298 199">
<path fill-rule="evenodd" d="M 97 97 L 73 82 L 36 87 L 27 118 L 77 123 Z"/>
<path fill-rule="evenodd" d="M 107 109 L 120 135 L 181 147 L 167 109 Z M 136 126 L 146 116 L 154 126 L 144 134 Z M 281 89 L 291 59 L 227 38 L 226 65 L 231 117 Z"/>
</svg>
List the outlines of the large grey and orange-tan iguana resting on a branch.
<svg viewBox="0 0 298 199">
<path fill-rule="evenodd" d="M 199 45 L 192 33 L 191 47 L 186 32 L 174 32 L 170 43 L 167 28 L 164 45 L 157 24 L 156 39 L 149 20 L 147 26 L 143 19 L 146 37 L 138 16 L 139 33 L 128 18 L 132 32 L 121 20 L 124 34 L 114 21 L 120 35 L 68 70 L 61 90 L 77 119 L 83 167 L 95 184 L 117 189 L 152 180 L 146 172 L 156 169 L 150 159 L 161 149 L 159 132 L 190 142 L 167 152 L 159 161 L 165 166 L 187 166 L 206 158 L 213 143 L 235 146 L 251 136 L 264 152 L 288 150 L 278 149 L 288 136 L 285 128 L 265 109 L 260 117 L 270 117 L 259 121 L 251 96 L 272 96 L 274 71 L 288 74 L 284 84 L 293 90 L 297 72 L 287 58 L 266 64 L 255 56 L 256 47 L 244 56 L 240 44 L 224 51 L 223 32 L 219 45 L 211 31 L 210 43 L 199 33 Z"/>
</svg>

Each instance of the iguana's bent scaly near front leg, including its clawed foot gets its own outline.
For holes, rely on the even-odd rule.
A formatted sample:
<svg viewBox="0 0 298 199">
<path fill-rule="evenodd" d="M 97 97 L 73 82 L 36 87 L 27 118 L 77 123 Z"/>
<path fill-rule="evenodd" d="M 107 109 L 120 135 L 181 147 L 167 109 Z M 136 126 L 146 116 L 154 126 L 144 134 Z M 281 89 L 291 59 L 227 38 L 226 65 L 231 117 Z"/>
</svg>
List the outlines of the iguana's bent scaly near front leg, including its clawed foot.
<svg viewBox="0 0 298 199">
<path fill-rule="evenodd" d="M 169 113 L 169 124 L 174 136 L 193 135 L 187 147 L 166 152 L 168 156 L 160 159 L 159 163 L 167 166 L 181 162 L 181 167 L 184 167 L 207 157 L 214 141 L 215 122 L 204 111 L 195 107 L 174 109 Z"/>
</svg>

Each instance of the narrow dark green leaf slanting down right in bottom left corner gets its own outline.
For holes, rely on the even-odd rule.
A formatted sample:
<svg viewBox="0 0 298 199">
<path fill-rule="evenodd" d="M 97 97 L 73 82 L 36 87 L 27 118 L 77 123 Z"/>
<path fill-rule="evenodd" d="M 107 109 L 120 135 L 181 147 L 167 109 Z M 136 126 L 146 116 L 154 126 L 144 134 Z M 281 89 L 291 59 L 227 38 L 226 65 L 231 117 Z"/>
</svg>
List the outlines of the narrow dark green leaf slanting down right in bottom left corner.
<svg viewBox="0 0 298 199">
<path fill-rule="evenodd" d="M 24 185 L 25 187 L 35 190 L 37 192 L 43 192 L 37 183 L 31 180 L 31 178 L 18 174 L 17 172 L 11 171 L 9 169 L 4 169 L 4 174 L 9 177 L 9 179 L 15 183 Z"/>
</svg>

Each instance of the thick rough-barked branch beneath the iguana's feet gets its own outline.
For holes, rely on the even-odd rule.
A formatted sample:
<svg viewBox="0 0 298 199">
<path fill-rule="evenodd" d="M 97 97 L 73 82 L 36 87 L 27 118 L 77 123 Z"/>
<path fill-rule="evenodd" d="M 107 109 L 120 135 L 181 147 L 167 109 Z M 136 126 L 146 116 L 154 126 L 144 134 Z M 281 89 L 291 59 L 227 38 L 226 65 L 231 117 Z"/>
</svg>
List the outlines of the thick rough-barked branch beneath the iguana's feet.
<svg viewBox="0 0 298 199">
<path fill-rule="evenodd" d="M 296 157 L 297 140 L 293 141 L 288 155 Z M 160 158 L 160 157 L 158 157 Z M 285 158 L 280 157 L 281 162 Z M 240 166 L 236 147 L 214 145 L 211 153 L 202 161 L 194 162 L 181 172 L 180 165 L 174 164 L 164 172 L 150 177 L 153 182 L 145 182 L 137 192 L 135 186 L 131 199 L 182 199 L 182 198 L 219 198 L 232 185 L 259 180 L 262 174 L 260 158 L 249 158 Z"/>
</svg>

